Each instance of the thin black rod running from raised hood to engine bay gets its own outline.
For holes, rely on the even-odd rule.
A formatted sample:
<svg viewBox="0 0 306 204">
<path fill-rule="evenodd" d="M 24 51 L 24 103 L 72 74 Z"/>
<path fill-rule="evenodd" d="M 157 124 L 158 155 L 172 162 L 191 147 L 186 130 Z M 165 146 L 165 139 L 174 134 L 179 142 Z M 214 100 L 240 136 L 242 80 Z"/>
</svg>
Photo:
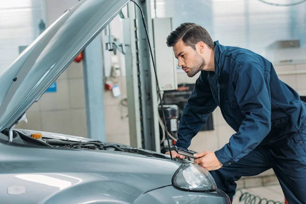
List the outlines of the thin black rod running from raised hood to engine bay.
<svg viewBox="0 0 306 204">
<path fill-rule="evenodd" d="M 168 130 L 168 129 L 167 129 L 166 119 L 165 119 L 165 113 L 164 113 L 163 102 L 162 102 L 161 90 L 160 90 L 160 88 L 159 88 L 159 83 L 158 83 L 158 78 L 157 78 L 157 72 L 156 72 L 154 57 L 153 57 L 153 53 L 152 53 L 151 43 L 150 43 L 150 40 L 149 40 L 148 29 L 147 29 L 147 25 L 146 25 L 146 22 L 145 22 L 145 17 L 144 17 L 144 15 L 143 15 L 143 11 L 142 11 L 141 7 L 140 7 L 135 1 L 131 0 L 131 2 L 133 2 L 133 3 L 139 8 L 139 10 L 140 10 L 140 12 L 141 12 L 142 22 L 143 22 L 143 26 L 144 26 L 144 29 L 145 29 L 145 33 L 146 33 L 146 36 L 147 36 L 149 48 L 150 48 L 150 54 L 151 54 L 151 58 L 152 58 L 152 63 L 153 63 L 153 68 L 154 68 L 154 73 L 155 73 L 155 79 L 156 79 L 158 94 L 159 94 L 160 101 L 161 101 L 161 108 L 162 108 L 162 112 L 163 112 L 163 118 L 164 118 L 165 128 L 166 128 L 166 130 Z M 167 141 L 168 141 L 168 146 L 169 146 L 170 158 L 171 158 L 171 160 L 173 160 L 173 159 L 172 159 L 171 149 L 170 149 L 169 137 L 168 137 L 167 134 L 166 134 L 166 136 L 167 136 Z"/>
</svg>

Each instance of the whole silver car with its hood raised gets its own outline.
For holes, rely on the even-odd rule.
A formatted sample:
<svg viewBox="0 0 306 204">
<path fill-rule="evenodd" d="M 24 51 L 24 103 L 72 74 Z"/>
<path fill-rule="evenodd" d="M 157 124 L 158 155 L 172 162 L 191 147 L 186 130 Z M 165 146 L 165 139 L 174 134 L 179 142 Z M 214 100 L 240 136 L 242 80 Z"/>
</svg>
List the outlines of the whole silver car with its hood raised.
<svg viewBox="0 0 306 204">
<path fill-rule="evenodd" d="M 0 73 L 0 203 L 230 203 L 187 160 L 82 137 L 17 130 L 128 0 L 82 0 Z"/>
</svg>

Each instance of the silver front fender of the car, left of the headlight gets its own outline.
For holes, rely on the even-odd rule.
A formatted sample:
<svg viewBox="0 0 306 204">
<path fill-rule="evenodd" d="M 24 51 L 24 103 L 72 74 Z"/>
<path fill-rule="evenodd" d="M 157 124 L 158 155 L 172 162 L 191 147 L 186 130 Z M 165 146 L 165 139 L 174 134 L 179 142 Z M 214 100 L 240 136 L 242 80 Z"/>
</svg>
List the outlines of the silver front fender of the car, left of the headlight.
<svg viewBox="0 0 306 204">
<path fill-rule="evenodd" d="M 67 203 L 74 200 L 71 195 L 80 195 L 76 198 L 82 202 L 107 196 L 132 203 L 147 191 L 171 185 L 173 174 L 182 165 L 112 150 L 36 147 L 6 141 L 0 142 L 0 149 L 0 198 L 4 203 L 59 203 L 54 202 L 57 199 Z M 10 188 L 24 189 L 24 193 L 9 194 Z"/>
</svg>

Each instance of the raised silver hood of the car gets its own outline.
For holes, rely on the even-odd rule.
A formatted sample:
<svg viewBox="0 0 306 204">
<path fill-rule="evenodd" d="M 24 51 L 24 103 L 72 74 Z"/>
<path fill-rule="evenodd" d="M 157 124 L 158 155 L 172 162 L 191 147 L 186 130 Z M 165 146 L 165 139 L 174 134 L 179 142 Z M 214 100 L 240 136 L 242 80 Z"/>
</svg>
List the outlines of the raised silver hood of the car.
<svg viewBox="0 0 306 204">
<path fill-rule="evenodd" d="M 0 131 L 13 126 L 129 0 L 82 0 L 0 70 Z"/>
</svg>

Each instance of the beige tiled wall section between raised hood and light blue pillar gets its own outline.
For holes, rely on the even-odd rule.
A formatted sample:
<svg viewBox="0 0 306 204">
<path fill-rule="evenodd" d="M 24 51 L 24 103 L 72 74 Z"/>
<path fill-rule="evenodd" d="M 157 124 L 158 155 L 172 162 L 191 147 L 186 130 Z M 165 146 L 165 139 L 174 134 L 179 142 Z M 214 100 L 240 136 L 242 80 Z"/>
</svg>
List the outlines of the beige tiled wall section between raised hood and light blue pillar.
<svg viewBox="0 0 306 204">
<path fill-rule="evenodd" d="M 57 80 L 57 92 L 46 92 L 27 111 L 28 123 L 16 128 L 87 136 L 84 81 L 71 64 Z M 78 66 L 77 66 L 78 68 Z M 73 77 L 68 79 L 68 71 Z"/>
</svg>

